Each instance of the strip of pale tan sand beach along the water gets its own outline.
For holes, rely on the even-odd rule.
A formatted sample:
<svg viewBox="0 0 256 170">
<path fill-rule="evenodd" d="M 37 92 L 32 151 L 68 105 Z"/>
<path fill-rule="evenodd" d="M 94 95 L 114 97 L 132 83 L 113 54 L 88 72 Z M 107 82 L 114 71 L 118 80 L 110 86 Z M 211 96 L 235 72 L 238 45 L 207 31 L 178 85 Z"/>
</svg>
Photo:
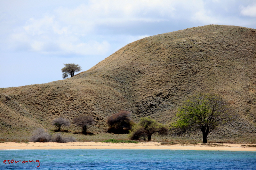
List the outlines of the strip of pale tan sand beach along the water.
<svg viewBox="0 0 256 170">
<path fill-rule="evenodd" d="M 255 147 L 246 147 L 243 145 L 251 144 L 221 144 L 218 146 L 205 146 L 201 144 L 175 144 L 161 145 L 158 142 L 141 142 L 133 143 L 101 143 L 101 142 L 30 142 L 30 143 L 15 143 L 6 142 L 0 143 L 0 150 L 5 149 L 169 149 L 169 150 L 212 150 L 212 151 L 256 151 Z"/>
</svg>

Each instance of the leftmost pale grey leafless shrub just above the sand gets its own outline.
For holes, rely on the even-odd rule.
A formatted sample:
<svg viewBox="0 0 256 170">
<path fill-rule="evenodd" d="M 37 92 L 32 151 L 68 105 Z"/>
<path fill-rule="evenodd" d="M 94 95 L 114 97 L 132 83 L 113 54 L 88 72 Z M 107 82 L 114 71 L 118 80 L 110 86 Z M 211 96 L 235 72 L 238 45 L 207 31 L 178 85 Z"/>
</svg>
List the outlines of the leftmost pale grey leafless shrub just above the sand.
<svg viewBox="0 0 256 170">
<path fill-rule="evenodd" d="M 51 135 L 45 131 L 43 128 L 36 129 L 33 132 L 33 136 L 30 138 L 30 142 L 50 142 Z"/>
</svg>

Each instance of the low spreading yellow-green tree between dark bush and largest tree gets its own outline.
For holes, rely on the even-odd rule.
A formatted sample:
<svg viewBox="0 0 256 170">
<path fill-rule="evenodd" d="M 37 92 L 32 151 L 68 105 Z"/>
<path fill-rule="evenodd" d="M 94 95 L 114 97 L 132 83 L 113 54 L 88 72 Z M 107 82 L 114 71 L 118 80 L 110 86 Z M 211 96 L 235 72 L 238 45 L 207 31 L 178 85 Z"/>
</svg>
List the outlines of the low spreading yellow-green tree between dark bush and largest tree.
<svg viewBox="0 0 256 170">
<path fill-rule="evenodd" d="M 152 134 L 155 132 L 157 132 L 158 135 L 161 136 L 168 135 L 168 128 L 164 124 L 157 123 L 153 119 L 143 117 L 140 118 L 138 124 L 132 127 L 131 139 L 140 140 L 141 138 L 143 138 L 143 140 L 146 140 L 146 137 L 148 137 L 148 141 L 150 141 Z"/>
</svg>

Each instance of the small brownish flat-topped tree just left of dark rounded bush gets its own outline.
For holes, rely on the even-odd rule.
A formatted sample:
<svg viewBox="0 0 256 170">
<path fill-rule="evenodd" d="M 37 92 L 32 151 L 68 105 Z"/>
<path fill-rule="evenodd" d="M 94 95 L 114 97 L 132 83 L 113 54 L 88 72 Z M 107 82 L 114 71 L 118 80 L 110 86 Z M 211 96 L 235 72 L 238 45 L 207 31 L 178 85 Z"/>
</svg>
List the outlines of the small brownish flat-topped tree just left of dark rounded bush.
<svg viewBox="0 0 256 170">
<path fill-rule="evenodd" d="M 87 135 L 87 125 L 95 124 L 93 117 L 88 115 L 78 116 L 73 118 L 73 122 L 76 126 L 82 127 L 82 134 Z"/>
</svg>

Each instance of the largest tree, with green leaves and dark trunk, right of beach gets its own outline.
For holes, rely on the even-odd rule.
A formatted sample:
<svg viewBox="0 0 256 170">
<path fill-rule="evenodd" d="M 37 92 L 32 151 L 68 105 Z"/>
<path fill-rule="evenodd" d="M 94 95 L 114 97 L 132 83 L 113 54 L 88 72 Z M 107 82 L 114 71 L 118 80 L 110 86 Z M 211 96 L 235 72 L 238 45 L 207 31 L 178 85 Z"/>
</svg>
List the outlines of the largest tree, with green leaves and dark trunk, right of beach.
<svg viewBox="0 0 256 170">
<path fill-rule="evenodd" d="M 199 129 L 203 133 L 203 143 L 207 143 L 209 133 L 237 119 L 238 114 L 220 95 L 196 93 L 183 102 L 176 116 L 176 122 L 171 124 L 174 134 L 190 134 Z"/>
</svg>

